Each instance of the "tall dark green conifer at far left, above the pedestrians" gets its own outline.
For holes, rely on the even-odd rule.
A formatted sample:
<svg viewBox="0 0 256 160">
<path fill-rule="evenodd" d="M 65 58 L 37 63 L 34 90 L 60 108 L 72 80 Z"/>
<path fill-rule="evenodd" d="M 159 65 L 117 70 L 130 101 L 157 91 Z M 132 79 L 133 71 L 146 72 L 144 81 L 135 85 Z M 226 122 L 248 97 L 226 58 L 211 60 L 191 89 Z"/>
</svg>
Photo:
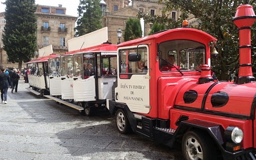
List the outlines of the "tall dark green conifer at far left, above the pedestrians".
<svg viewBox="0 0 256 160">
<path fill-rule="evenodd" d="M 4 18 L 6 24 L 2 35 L 3 49 L 8 61 L 27 62 L 36 51 L 36 5 L 34 0 L 6 0 Z"/>
</svg>

